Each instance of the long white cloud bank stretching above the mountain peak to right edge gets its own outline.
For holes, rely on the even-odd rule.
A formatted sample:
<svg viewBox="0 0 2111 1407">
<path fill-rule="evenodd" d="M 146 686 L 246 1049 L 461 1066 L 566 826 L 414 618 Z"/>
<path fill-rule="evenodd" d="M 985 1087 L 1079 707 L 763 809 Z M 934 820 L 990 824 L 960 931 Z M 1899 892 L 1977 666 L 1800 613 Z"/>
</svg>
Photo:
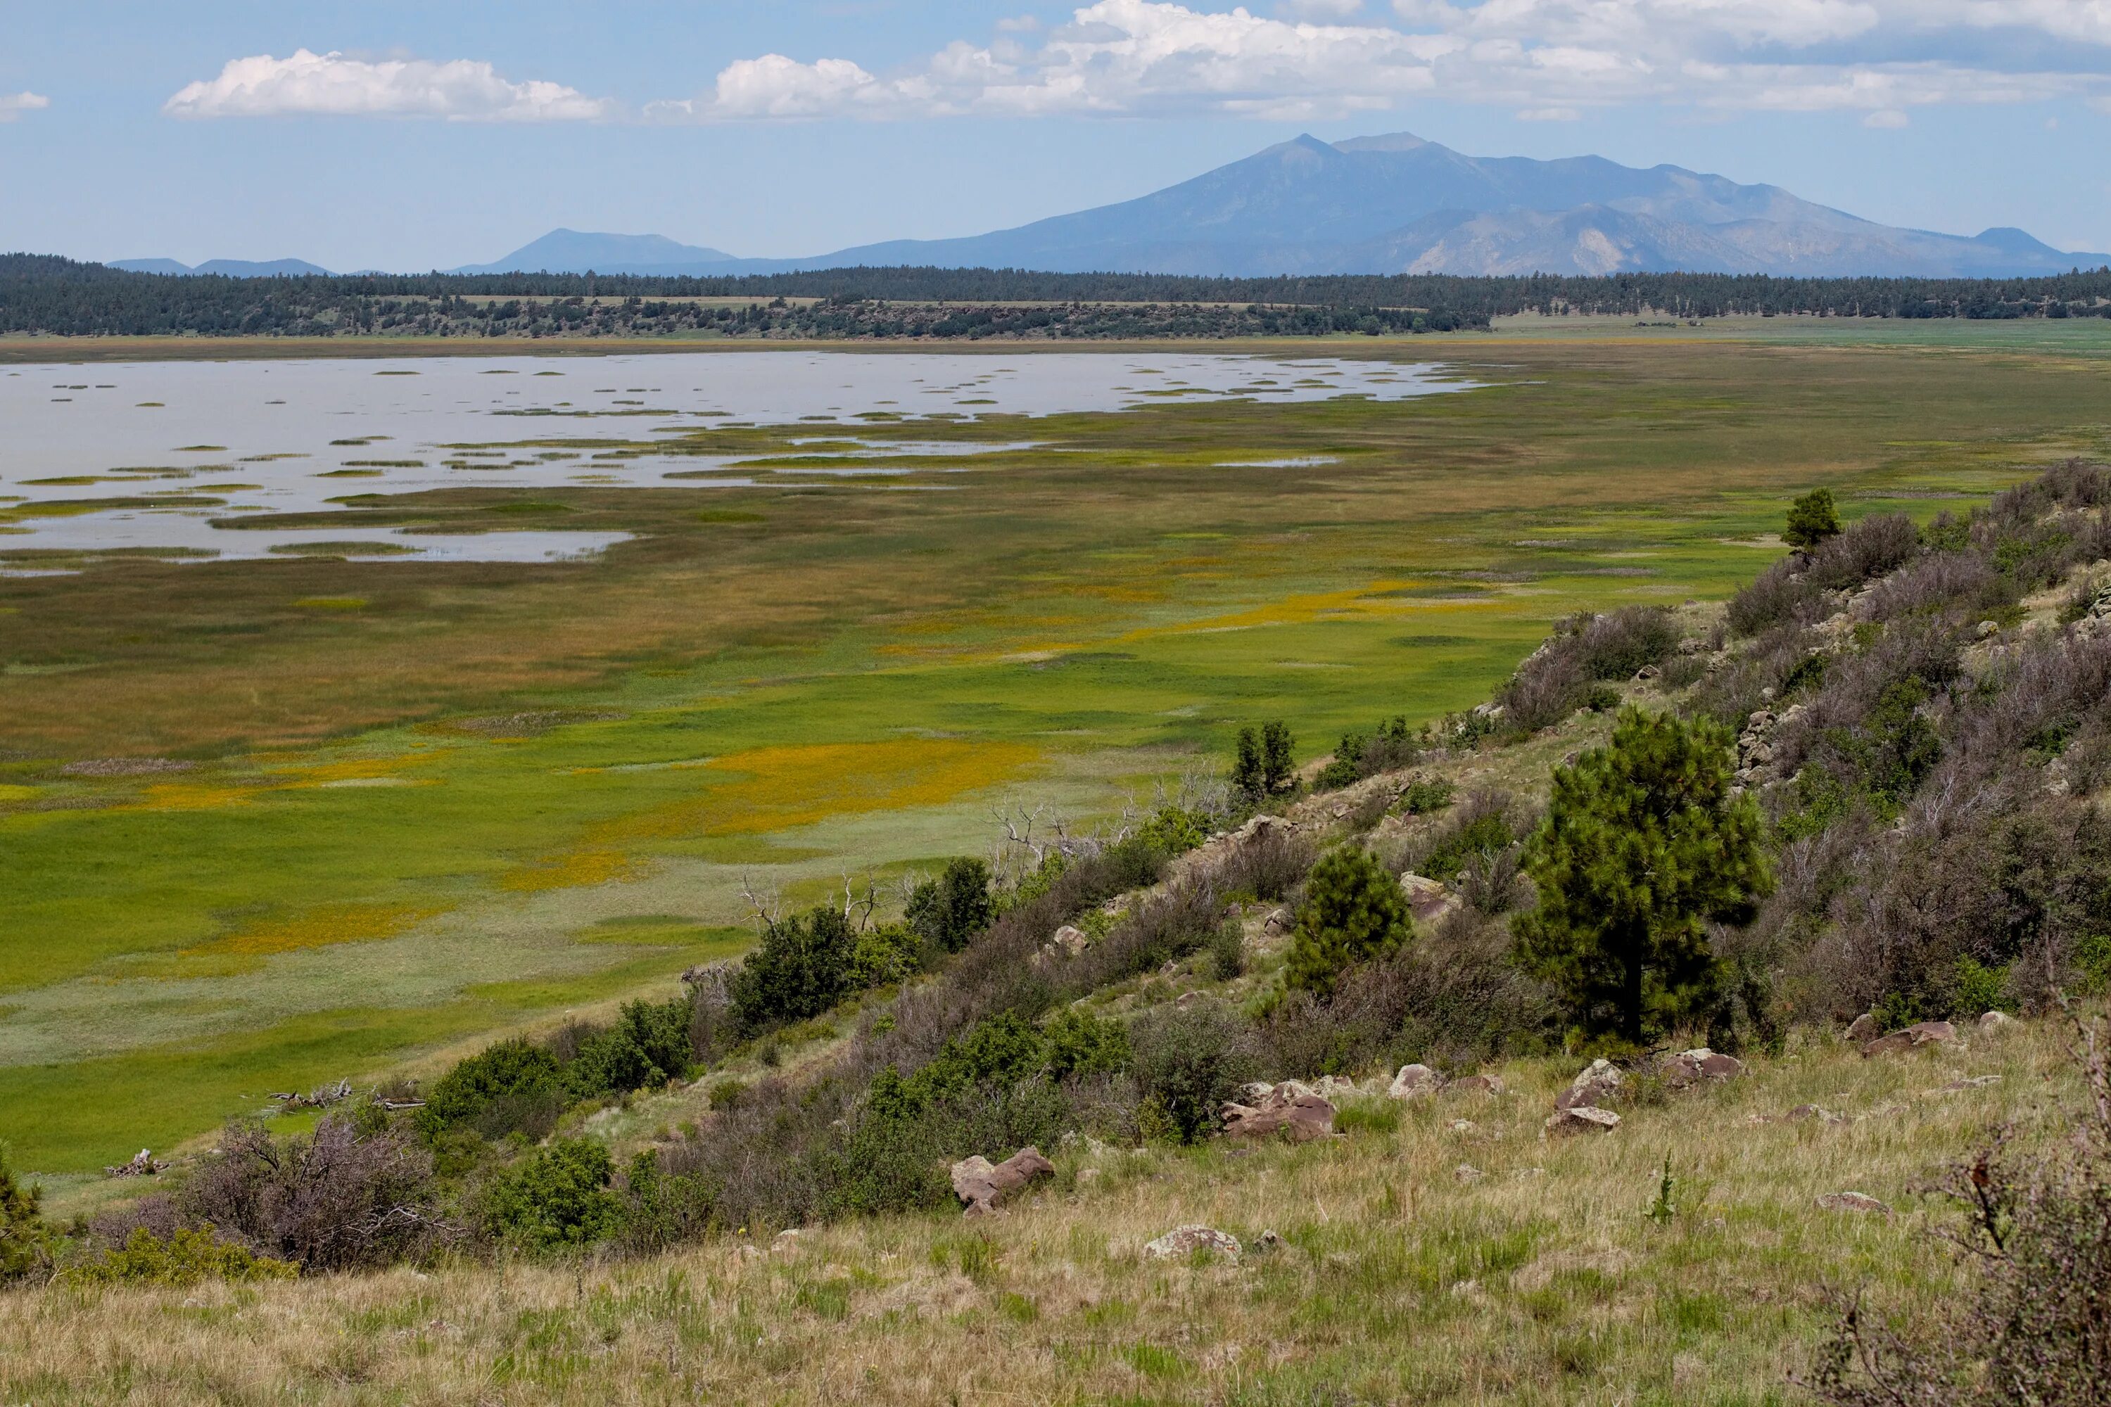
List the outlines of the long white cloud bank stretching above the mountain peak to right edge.
<svg viewBox="0 0 2111 1407">
<path fill-rule="evenodd" d="M 2001 32 L 1999 42 L 1989 32 Z M 2111 93 L 2111 0 L 1096 0 L 895 72 L 741 59 L 663 118 L 1245 114 L 1412 97 L 1568 120 L 1617 103 L 1904 114 Z M 1891 120 L 1891 118 L 1881 118 Z"/>
</svg>

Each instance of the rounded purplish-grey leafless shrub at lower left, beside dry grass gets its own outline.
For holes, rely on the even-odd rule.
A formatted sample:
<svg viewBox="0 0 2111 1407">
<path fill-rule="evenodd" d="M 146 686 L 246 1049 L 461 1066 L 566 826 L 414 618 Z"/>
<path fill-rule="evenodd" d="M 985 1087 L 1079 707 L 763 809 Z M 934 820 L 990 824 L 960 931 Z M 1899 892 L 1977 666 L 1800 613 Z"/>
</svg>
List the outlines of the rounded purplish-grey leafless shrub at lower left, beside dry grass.
<svg viewBox="0 0 2111 1407">
<path fill-rule="evenodd" d="M 175 1194 L 175 1213 L 302 1270 L 367 1270 L 452 1234 L 431 1181 L 431 1154 L 397 1129 L 331 1114 L 312 1135 L 274 1139 L 236 1122 Z"/>
</svg>

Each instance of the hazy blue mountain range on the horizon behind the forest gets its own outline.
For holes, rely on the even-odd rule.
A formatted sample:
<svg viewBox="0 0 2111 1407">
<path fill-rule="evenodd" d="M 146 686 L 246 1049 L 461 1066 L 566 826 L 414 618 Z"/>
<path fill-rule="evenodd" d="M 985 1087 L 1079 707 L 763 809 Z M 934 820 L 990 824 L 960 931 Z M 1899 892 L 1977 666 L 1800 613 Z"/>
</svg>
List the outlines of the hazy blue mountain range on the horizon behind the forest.
<svg viewBox="0 0 2111 1407">
<path fill-rule="evenodd" d="M 2022 230 L 1974 236 L 1881 226 L 1682 167 L 1602 156 L 1463 156 L 1410 133 L 1298 137 L 1138 200 L 944 240 L 859 245 L 802 259 L 739 259 L 659 234 L 553 230 L 458 274 L 775 274 L 847 266 L 1146 274 L 1782 274 L 2012 278 L 2105 266 Z M 298 259 L 148 272 L 321 272 Z"/>
</svg>

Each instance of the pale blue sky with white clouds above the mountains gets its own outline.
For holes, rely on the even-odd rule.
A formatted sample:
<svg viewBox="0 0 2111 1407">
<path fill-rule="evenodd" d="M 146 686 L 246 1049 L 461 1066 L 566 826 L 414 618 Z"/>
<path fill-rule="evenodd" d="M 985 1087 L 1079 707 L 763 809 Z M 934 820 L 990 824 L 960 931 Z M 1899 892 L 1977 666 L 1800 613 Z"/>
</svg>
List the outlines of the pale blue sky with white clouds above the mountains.
<svg viewBox="0 0 2111 1407">
<path fill-rule="evenodd" d="M 813 255 L 1389 131 L 2107 251 L 2111 0 L 0 0 L 0 249 L 82 259 Z"/>
</svg>

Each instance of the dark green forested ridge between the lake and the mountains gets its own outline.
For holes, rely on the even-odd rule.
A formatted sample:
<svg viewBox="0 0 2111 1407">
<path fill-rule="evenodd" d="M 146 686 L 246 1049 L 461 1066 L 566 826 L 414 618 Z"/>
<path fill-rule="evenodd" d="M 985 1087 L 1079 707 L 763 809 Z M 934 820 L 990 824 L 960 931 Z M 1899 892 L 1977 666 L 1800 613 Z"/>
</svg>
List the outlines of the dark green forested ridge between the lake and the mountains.
<svg viewBox="0 0 2111 1407">
<path fill-rule="evenodd" d="M 1237 338 L 1454 331 L 1518 312 L 2111 316 L 2111 268 L 2052 278 L 1199 278 L 990 268 L 228 278 L 0 255 L 0 333 L 40 335 Z"/>
</svg>

